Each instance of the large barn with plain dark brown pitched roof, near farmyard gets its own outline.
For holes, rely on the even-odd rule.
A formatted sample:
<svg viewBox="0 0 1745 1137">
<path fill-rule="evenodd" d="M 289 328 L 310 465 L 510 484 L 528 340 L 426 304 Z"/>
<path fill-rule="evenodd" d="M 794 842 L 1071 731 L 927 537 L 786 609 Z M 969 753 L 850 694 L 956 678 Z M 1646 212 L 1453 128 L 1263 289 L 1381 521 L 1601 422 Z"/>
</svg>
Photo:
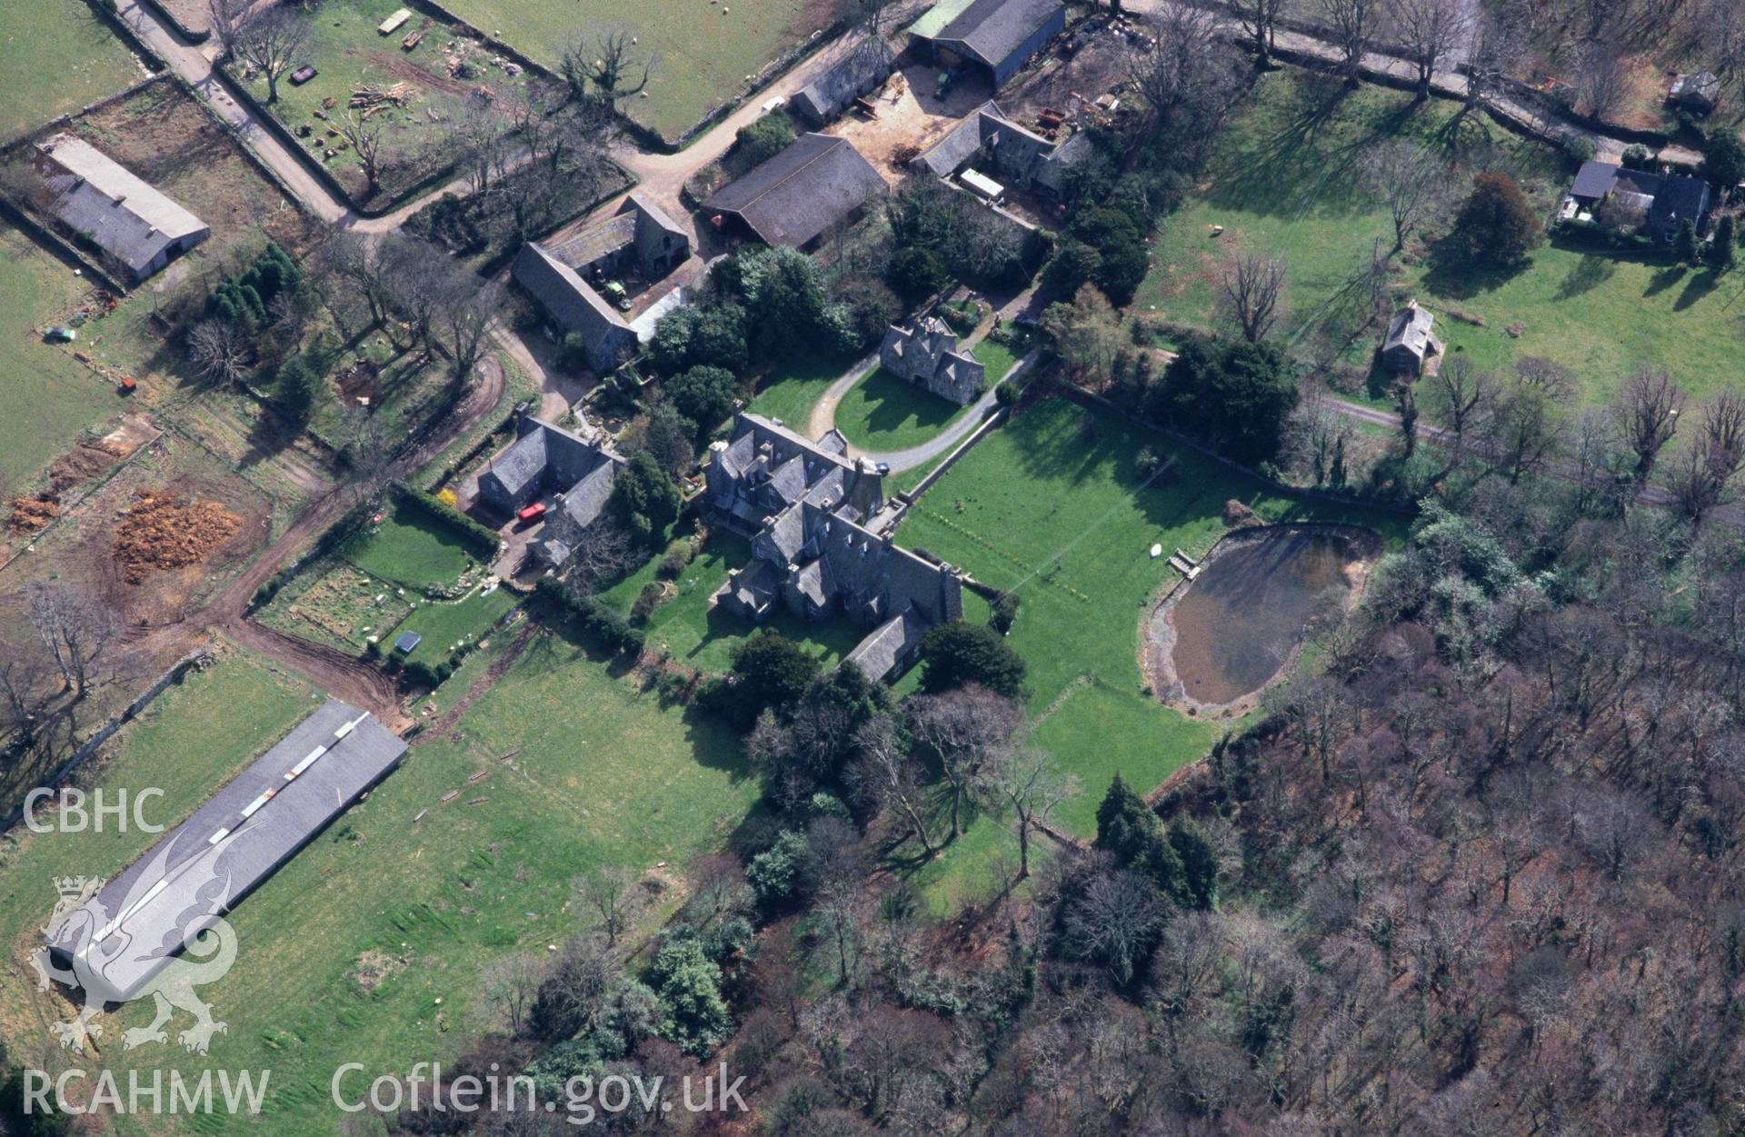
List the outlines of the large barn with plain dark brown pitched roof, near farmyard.
<svg viewBox="0 0 1745 1137">
<path fill-rule="evenodd" d="M 846 140 L 801 134 L 787 150 L 717 190 L 703 211 L 721 228 L 733 225 L 764 244 L 804 249 L 886 195 L 890 187 Z"/>
</svg>

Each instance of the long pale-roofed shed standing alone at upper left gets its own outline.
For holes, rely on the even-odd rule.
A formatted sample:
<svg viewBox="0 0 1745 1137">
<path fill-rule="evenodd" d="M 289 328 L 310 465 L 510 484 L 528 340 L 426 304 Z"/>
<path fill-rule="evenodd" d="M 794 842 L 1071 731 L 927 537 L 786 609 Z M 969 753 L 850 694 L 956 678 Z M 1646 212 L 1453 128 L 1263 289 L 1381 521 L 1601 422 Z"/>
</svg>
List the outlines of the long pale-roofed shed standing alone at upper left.
<svg viewBox="0 0 1745 1137">
<path fill-rule="evenodd" d="M 38 204 L 143 283 L 211 235 L 197 216 L 73 134 L 37 143 Z"/>
</svg>

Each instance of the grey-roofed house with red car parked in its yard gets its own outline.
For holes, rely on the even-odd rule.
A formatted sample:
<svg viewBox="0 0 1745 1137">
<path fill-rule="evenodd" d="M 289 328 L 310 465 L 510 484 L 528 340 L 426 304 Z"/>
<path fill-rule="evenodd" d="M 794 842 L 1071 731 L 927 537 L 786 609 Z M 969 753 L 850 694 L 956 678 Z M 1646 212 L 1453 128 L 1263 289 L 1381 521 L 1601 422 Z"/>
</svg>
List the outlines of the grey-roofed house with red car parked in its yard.
<svg viewBox="0 0 1745 1137">
<path fill-rule="evenodd" d="M 606 513 L 625 459 L 604 436 L 583 438 L 534 415 L 524 415 L 515 434 L 478 474 L 478 500 L 513 516 L 551 495 L 553 509 L 572 523 L 572 532 L 586 532 Z M 562 565 L 571 549 L 553 535 L 536 542 L 534 555 Z"/>
</svg>

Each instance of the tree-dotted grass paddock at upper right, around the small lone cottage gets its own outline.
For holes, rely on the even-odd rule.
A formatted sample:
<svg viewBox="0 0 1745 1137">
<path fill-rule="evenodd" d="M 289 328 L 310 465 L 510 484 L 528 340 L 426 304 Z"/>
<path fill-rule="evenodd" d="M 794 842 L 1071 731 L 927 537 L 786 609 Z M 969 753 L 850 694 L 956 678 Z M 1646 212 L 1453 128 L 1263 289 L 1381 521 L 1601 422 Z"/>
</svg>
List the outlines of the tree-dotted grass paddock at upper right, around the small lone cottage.
<svg viewBox="0 0 1745 1137">
<path fill-rule="evenodd" d="M 1208 183 L 1164 221 L 1136 310 L 1204 326 L 1213 317 L 1220 260 L 1234 248 L 1258 249 L 1288 265 L 1284 337 L 1305 351 L 1319 335 L 1345 344 L 1352 328 L 1347 279 L 1377 239 L 1384 248 L 1393 241 L 1380 202 L 1354 192 L 1358 162 L 1389 136 L 1417 140 L 1457 162 L 1461 187 L 1476 169 L 1509 171 L 1550 216 L 1570 164 L 1455 110 L 1443 99 L 1417 105 L 1379 87 L 1340 94 L 1337 80 L 1290 68 L 1263 77 L 1222 134 Z M 1211 235 L 1213 225 L 1225 227 L 1222 237 Z M 1429 235 L 1443 228 L 1445 221 L 1433 221 Z M 1591 401 L 1605 399 L 1642 363 L 1670 364 L 1693 394 L 1714 394 L 1736 373 L 1745 349 L 1745 274 L 1715 277 L 1562 239 L 1513 274 L 1448 263 L 1434 249 L 1406 260 L 1408 291 L 1436 312 L 1436 335 L 1450 354 L 1487 368 L 1522 356 L 1557 359 L 1581 377 Z M 1358 335 L 1342 359 L 1368 370 L 1379 338 L 1380 330 Z"/>
</svg>

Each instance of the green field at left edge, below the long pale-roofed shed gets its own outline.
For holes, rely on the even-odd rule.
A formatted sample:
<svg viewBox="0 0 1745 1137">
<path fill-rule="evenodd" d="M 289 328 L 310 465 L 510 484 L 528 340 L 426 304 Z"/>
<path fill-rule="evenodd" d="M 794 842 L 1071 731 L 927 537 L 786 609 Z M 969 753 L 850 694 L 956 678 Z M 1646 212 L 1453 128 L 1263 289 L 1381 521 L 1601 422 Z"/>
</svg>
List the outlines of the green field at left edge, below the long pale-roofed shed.
<svg viewBox="0 0 1745 1137">
<path fill-rule="evenodd" d="M 87 293 L 72 269 L 0 223 L 0 497 L 33 488 L 31 476 L 80 431 L 120 412 L 110 384 L 42 342 Z"/>
</svg>

